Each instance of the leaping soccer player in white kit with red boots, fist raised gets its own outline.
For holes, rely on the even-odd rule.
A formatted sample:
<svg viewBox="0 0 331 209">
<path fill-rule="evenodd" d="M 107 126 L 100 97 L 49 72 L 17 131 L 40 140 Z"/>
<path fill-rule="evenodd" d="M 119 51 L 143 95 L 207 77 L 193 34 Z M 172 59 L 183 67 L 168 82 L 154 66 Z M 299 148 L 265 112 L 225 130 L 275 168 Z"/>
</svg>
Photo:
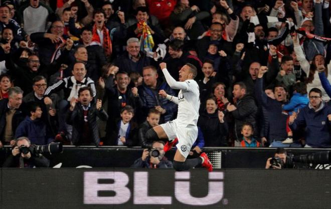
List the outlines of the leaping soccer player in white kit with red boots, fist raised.
<svg viewBox="0 0 331 209">
<path fill-rule="evenodd" d="M 208 171 L 212 171 L 213 165 L 205 152 L 201 153 L 200 157 L 186 159 L 198 136 L 199 86 L 193 80 L 197 76 L 197 68 L 190 63 L 184 65 L 179 71 L 179 82 L 170 75 L 167 64 L 160 63 L 160 68 L 169 86 L 180 90 L 178 97 L 168 95 L 164 91 L 159 92 L 160 96 L 178 104 L 178 115 L 177 119 L 173 121 L 149 129 L 146 137 L 154 140 L 168 138 L 169 141 L 165 144 L 164 151 L 168 151 L 178 141 L 173 162 L 175 170 L 184 171 L 201 164 Z"/>
</svg>

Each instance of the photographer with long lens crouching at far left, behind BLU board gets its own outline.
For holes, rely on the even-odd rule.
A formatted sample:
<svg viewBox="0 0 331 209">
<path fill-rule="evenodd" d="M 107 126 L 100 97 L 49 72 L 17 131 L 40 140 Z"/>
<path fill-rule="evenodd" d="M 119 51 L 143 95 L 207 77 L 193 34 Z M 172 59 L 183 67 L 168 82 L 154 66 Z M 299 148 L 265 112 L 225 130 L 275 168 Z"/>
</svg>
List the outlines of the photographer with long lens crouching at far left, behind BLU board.
<svg viewBox="0 0 331 209">
<path fill-rule="evenodd" d="M 18 138 L 12 154 L 7 157 L 3 167 L 49 167 L 50 161 L 41 154 L 31 153 L 30 146 L 31 142 L 27 137 Z"/>
</svg>

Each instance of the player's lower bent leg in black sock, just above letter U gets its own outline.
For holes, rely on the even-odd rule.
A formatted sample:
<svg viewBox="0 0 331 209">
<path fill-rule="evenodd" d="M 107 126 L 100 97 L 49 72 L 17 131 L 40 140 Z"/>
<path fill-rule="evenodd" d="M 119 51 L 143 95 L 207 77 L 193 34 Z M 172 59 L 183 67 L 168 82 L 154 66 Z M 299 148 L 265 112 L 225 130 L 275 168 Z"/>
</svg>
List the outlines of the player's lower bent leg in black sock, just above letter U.
<svg viewBox="0 0 331 209">
<path fill-rule="evenodd" d="M 174 162 L 173 166 L 176 171 L 185 171 L 189 170 L 190 168 L 193 168 L 199 164 L 202 163 L 202 158 L 197 157 L 194 159 L 186 159 L 181 152 L 177 149 L 175 157 L 174 157 Z"/>
</svg>

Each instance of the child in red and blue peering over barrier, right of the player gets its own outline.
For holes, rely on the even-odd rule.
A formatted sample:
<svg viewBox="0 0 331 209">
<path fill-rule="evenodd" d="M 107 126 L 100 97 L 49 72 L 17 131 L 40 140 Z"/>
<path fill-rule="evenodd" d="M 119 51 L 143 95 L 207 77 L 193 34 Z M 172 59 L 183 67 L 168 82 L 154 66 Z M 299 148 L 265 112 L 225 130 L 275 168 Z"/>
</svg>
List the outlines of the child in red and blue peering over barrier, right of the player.
<svg viewBox="0 0 331 209">
<path fill-rule="evenodd" d="M 243 138 L 240 142 L 236 141 L 235 146 L 240 147 L 261 147 L 261 143 L 256 140 L 256 138 L 253 137 L 254 128 L 252 124 L 246 122 L 243 124 L 243 127 L 241 128 L 241 134 L 243 135 Z"/>
</svg>

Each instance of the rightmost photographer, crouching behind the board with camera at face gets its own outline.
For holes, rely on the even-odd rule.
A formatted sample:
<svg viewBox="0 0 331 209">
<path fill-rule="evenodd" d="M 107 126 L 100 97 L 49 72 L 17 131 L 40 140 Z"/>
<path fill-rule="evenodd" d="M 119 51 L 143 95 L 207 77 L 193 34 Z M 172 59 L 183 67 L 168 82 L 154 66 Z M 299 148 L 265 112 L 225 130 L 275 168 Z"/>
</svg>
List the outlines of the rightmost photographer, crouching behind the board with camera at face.
<svg viewBox="0 0 331 209">
<path fill-rule="evenodd" d="M 292 160 L 289 160 L 287 152 L 284 148 L 277 148 L 274 157 L 267 159 L 265 168 L 282 169 L 282 168 L 296 168 Z"/>
</svg>

